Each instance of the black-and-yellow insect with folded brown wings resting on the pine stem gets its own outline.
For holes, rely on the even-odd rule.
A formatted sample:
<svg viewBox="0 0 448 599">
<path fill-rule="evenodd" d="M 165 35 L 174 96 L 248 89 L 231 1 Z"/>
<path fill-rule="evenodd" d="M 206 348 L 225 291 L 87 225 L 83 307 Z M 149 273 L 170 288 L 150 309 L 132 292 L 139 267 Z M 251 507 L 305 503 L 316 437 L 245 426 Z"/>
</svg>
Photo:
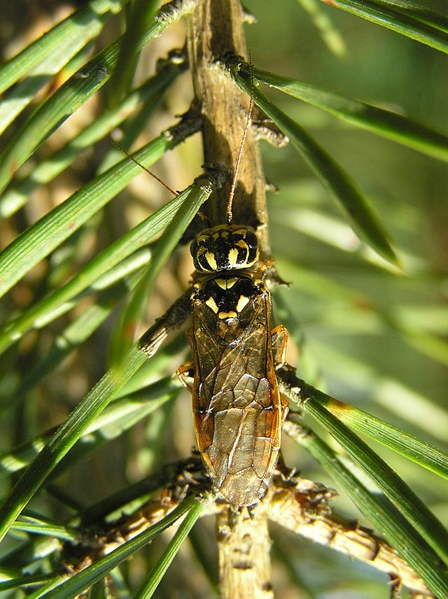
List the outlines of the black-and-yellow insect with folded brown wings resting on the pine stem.
<svg viewBox="0 0 448 599">
<path fill-rule="evenodd" d="M 232 197 L 251 118 L 239 149 L 227 223 L 204 230 L 191 244 L 193 386 L 187 365 L 178 371 L 193 395 L 197 445 L 216 488 L 234 506 L 258 502 L 279 457 L 286 418 L 275 365 L 284 362 L 288 334 L 271 332 L 271 301 L 251 227 L 232 224 Z"/>
</svg>

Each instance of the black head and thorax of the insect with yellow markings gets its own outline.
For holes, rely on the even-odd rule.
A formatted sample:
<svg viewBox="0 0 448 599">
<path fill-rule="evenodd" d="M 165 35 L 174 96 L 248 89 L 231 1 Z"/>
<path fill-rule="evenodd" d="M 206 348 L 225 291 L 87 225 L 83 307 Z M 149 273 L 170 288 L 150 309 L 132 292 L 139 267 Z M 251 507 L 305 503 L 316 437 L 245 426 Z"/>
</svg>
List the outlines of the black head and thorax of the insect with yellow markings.
<svg viewBox="0 0 448 599">
<path fill-rule="evenodd" d="M 255 231 L 243 225 L 219 225 L 203 231 L 190 251 L 196 269 L 195 299 L 220 320 L 237 318 L 260 293 L 253 281 L 259 259 Z"/>
</svg>

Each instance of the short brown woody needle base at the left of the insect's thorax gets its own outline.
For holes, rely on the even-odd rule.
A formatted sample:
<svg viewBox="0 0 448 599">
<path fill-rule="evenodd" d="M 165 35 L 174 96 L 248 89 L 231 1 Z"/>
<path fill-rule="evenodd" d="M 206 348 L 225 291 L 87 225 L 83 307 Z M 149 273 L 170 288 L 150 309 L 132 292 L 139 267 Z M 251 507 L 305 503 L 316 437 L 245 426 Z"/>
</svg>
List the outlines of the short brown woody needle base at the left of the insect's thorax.
<svg viewBox="0 0 448 599">
<path fill-rule="evenodd" d="M 146 353 L 148 358 L 158 351 L 170 332 L 179 329 L 191 316 L 191 293 L 191 288 L 187 289 L 140 337 L 139 349 Z"/>
</svg>

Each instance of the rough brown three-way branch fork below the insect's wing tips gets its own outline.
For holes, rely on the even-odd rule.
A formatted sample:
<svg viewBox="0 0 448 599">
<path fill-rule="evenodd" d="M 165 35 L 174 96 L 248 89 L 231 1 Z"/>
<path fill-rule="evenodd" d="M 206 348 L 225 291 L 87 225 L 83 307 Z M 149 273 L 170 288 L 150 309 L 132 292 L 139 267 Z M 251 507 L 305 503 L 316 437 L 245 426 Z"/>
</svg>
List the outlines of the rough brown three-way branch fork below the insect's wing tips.
<svg viewBox="0 0 448 599">
<path fill-rule="evenodd" d="M 128 516 L 102 532 L 85 531 L 82 544 L 66 544 L 65 570 L 68 576 L 83 570 L 113 549 L 147 530 L 172 511 L 189 493 L 201 493 L 209 486 L 202 463 L 194 456 L 169 465 L 155 476 L 148 488 L 165 482 L 160 499 L 148 502 L 137 514 Z M 332 514 L 329 500 L 335 491 L 300 477 L 277 472 L 267 494 L 250 513 L 235 514 L 221 499 L 209 502 L 202 515 L 216 514 L 220 590 L 223 599 L 273 599 L 267 521 L 293 533 L 340 551 L 349 558 L 369 563 L 385 572 L 399 590 L 406 586 L 416 598 L 435 596 L 398 552 L 371 530 L 356 521 Z"/>
</svg>

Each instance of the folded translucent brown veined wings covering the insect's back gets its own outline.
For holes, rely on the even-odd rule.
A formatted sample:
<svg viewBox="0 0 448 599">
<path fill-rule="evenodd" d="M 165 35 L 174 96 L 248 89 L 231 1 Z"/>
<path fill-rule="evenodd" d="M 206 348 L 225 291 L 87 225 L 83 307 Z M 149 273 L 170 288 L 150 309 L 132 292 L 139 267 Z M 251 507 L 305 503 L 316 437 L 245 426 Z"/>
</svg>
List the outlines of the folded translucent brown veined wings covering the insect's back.
<svg viewBox="0 0 448 599">
<path fill-rule="evenodd" d="M 251 505 L 274 473 L 281 401 L 264 291 L 237 318 L 222 320 L 193 300 L 193 411 L 209 476 L 233 505 Z"/>
</svg>

